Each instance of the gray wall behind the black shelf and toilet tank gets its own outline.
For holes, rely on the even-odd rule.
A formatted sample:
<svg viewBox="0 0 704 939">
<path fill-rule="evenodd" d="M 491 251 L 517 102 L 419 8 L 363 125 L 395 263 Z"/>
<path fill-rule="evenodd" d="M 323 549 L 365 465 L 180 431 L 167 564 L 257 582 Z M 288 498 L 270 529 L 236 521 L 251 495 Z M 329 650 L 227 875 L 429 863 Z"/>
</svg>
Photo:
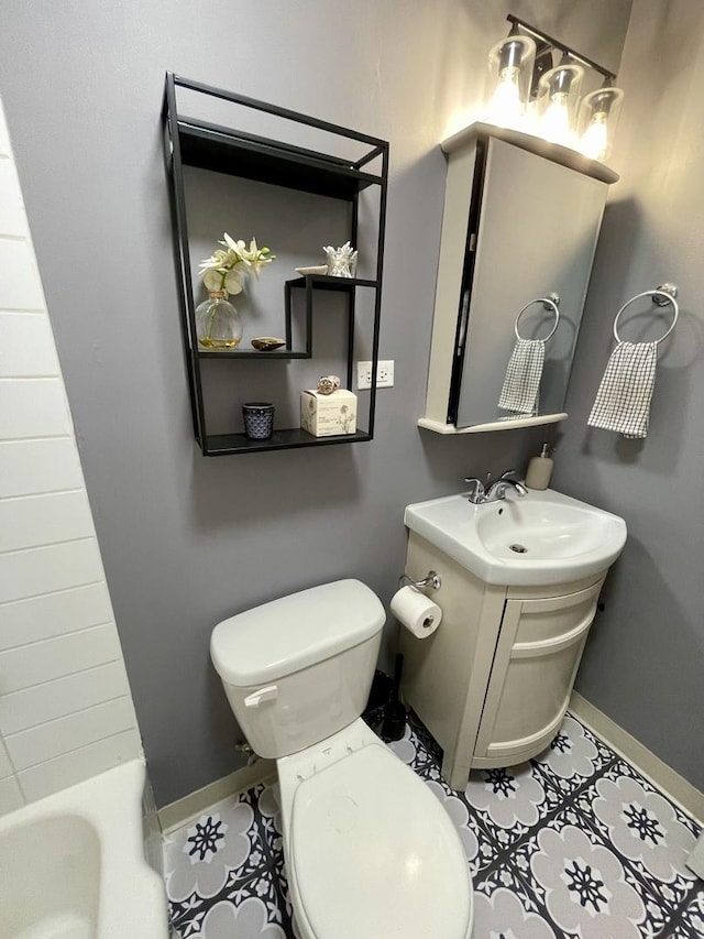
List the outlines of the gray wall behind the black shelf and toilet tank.
<svg viewBox="0 0 704 939">
<path fill-rule="evenodd" d="M 613 44 L 630 4 L 608 6 Z M 565 20 L 562 0 L 514 10 L 549 31 Z M 444 187 L 437 143 L 481 99 L 505 11 L 480 0 L 6 0 L 2 15 L 0 89 L 165 804 L 238 765 L 208 657 L 215 623 L 345 576 L 387 602 L 404 505 L 458 491 L 465 474 L 522 468 L 537 449 L 540 429 L 443 439 L 415 426 Z M 372 444 L 199 456 L 160 151 L 166 69 L 391 140 L 381 352 L 396 360 L 396 386 L 378 395 Z"/>
</svg>

